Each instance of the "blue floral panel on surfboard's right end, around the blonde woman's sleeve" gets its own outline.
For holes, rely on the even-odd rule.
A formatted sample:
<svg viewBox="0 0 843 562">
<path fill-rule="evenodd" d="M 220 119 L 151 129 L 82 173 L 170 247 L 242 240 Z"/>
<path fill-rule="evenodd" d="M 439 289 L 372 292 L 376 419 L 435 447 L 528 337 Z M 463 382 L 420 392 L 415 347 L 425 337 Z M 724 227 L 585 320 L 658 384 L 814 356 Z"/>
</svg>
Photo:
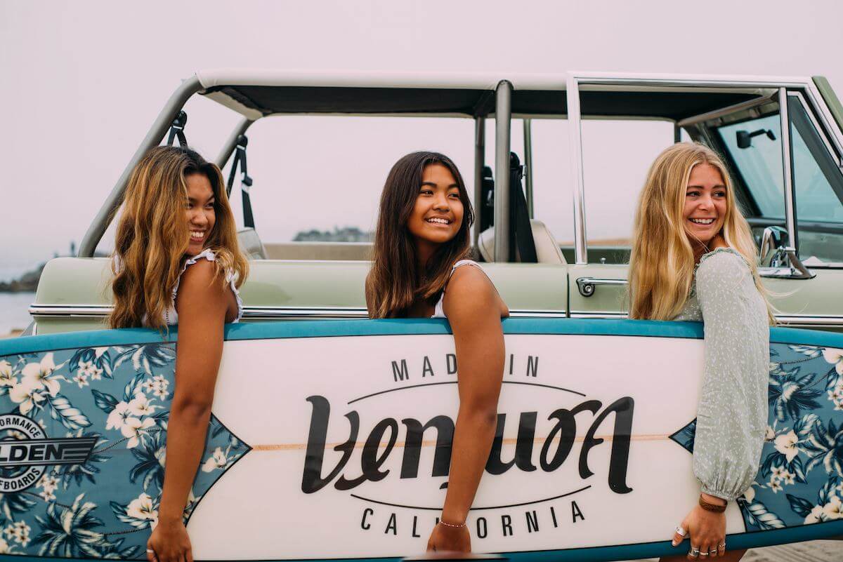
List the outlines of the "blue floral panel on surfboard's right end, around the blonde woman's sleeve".
<svg viewBox="0 0 843 562">
<path fill-rule="evenodd" d="M 843 349 L 770 345 L 770 415 L 747 531 L 843 519 Z M 693 451 L 695 422 L 674 441 Z"/>
</svg>

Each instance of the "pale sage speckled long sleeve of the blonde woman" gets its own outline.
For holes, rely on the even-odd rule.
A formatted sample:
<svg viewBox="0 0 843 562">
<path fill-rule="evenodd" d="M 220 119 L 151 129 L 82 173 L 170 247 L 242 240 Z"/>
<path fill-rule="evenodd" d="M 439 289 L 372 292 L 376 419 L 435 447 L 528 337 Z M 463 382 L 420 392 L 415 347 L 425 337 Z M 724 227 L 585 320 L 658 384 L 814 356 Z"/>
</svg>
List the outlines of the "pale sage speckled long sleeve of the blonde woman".
<svg viewBox="0 0 843 562">
<path fill-rule="evenodd" d="M 732 501 L 758 473 L 767 425 L 770 331 L 764 299 L 733 250 L 707 254 L 696 272 L 705 325 L 694 474 L 702 491 Z"/>
</svg>

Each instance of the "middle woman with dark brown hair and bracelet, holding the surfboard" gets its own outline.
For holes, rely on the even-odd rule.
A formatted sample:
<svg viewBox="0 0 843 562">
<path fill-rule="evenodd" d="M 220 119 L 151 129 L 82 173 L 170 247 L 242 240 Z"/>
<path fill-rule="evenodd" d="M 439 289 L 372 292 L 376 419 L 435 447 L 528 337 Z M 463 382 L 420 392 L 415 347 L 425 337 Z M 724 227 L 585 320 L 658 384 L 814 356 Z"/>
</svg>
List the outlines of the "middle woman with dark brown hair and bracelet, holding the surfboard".
<svg viewBox="0 0 843 562">
<path fill-rule="evenodd" d="M 474 220 L 454 162 L 413 152 L 389 171 L 380 199 L 366 304 L 373 318 L 448 318 L 456 346 L 459 413 L 448 492 L 428 550 L 470 552 L 465 518 L 495 437 L 507 305 L 465 257 Z"/>
</svg>

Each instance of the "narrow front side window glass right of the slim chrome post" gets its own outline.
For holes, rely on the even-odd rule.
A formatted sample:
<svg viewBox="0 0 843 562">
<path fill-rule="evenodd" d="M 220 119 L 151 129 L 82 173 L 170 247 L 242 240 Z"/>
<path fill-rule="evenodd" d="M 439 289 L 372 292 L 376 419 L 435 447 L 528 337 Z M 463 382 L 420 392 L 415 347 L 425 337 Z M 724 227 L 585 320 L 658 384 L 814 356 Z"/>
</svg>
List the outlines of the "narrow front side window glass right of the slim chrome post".
<svg viewBox="0 0 843 562">
<path fill-rule="evenodd" d="M 843 262 L 843 177 L 798 98 L 788 98 L 799 254 L 808 265 Z"/>
</svg>

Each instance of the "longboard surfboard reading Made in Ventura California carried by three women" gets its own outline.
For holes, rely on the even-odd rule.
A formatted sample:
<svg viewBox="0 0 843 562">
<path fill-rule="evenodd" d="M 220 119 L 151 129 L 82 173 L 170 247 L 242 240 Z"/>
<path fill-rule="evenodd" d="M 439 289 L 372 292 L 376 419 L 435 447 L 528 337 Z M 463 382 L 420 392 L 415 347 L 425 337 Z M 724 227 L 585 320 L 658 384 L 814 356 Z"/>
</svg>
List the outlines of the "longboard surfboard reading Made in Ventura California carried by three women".
<svg viewBox="0 0 843 562">
<path fill-rule="evenodd" d="M 703 331 L 510 319 L 468 517 L 514 560 L 682 554 Z M 185 520 L 197 560 L 400 559 L 441 512 L 458 411 L 445 321 L 227 326 Z M 170 331 L 0 341 L 0 555 L 144 559 L 175 388 Z M 843 334 L 771 329 L 760 470 L 729 548 L 843 535 Z M 728 423 L 729 420 L 723 420 Z M 16 558 L 12 558 L 15 556 Z"/>
</svg>

